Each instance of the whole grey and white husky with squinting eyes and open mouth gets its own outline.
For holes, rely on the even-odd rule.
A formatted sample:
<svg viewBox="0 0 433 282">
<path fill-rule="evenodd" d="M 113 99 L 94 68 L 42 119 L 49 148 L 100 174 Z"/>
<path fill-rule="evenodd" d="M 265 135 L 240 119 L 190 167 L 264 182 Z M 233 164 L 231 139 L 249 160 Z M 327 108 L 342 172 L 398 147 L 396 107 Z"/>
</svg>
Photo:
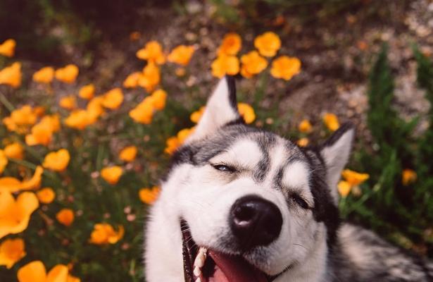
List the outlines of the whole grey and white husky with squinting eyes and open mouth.
<svg viewBox="0 0 433 282">
<path fill-rule="evenodd" d="M 353 135 L 302 148 L 251 128 L 222 78 L 151 209 L 146 281 L 433 281 L 431 262 L 339 221 Z"/>
</svg>

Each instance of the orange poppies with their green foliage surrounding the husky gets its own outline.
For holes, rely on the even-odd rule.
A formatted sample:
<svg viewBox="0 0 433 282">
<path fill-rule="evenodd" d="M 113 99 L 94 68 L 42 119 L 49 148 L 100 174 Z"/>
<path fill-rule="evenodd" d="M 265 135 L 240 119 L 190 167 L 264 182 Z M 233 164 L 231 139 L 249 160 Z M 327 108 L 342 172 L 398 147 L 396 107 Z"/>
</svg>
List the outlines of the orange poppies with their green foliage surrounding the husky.
<svg viewBox="0 0 433 282">
<path fill-rule="evenodd" d="M 283 131 L 291 118 L 277 111 L 283 91 L 273 104 L 261 103 L 268 85 L 290 85 L 303 72 L 272 27 L 252 39 L 237 32 L 215 38 L 218 48 L 202 70 L 213 81 L 203 85 L 192 81 L 191 65 L 205 47 L 153 38 L 139 44 L 139 32 L 129 37 L 139 67 L 103 85 L 73 62 L 35 69 L 16 51 L 18 39 L 0 38 L 0 281 L 144 281 L 146 211 L 158 199 L 170 155 L 203 114 L 206 97 L 197 89 L 210 93 L 225 75 L 237 78 L 247 124 L 301 147 L 318 145 L 340 126 L 327 112 Z M 427 128 L 413 135 L 418 119 L 403 122 L 391 107 L 386 47 L 374 56 L 372 137 L 357 141 L 342 173 L 341 216 L 431 256 L 433 110 Z M 413 56 L 417 87 L 433 102 L 432 61 L 417 47 Z"/>
</svg>

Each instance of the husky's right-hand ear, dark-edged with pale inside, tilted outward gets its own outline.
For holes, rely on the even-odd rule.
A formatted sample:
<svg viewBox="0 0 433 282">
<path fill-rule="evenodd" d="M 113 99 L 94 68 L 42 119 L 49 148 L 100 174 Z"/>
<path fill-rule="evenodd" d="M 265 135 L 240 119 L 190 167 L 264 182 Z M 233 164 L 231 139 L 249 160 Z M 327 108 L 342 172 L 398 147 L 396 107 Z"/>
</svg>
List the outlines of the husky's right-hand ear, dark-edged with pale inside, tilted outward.
<svg viewBox="0 0 433 282">
<path fill-rule="evenodd" d="M 352 123 L 344 123 L 320 147 L 320 156 L 325 161 L 327 185 L 331 190 L 334 202 L 338 202 L 337 183 L 341 171 L 349 161 L 355 129 Z"/>
</svg>

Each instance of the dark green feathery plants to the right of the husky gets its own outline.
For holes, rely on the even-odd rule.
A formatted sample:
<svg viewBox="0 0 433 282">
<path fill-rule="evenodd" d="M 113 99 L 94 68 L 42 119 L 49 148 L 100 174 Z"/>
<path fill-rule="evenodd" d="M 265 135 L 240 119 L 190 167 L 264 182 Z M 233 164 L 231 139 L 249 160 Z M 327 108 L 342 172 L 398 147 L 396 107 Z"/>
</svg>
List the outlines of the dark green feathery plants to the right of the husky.
<svg viewBox="0 0 433 282">
<path fill-rule="evenodd" d="M 432 63 L 414 49 L 418 61 L 418 84 L 426 89 L 432 102 Z M 432 248 L 432 238 L 425 235 L 433 220 L 432 125 L 415 138 L 413 129 L 419 118 L 405 122 L 393 109 L 394 78 L 384 45 L 370 72 L 368 128 L 372 149 L 355 154 L 355 164 L 370 174 L 370 188 L 362 196 L 349 196 L 343 202 L 343 215 L 372 226 L 390 240 L 405 245 L 420 244 Z M 432 112 L 432 111 L 431 111 Z M 430 113 L 431 114 L 431 113 Z M 418 180 L 403 184 L 403 169 L 413 169 Z"/>
</svg>

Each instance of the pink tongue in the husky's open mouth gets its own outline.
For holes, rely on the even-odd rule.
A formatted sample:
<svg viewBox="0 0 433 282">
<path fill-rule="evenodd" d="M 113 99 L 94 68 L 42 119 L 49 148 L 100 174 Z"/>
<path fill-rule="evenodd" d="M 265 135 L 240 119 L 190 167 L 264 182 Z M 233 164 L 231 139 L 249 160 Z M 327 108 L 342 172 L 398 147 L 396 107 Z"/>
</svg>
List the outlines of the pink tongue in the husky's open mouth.
<svg viewBox="0 0 433 282">
<path fill-rule="evenodd" d="M 249 265 L 241 257 L 208 251 L 218 266 L 210 281 L 215 282 L 267 282 L 265 275 Z"/>
</svg>

